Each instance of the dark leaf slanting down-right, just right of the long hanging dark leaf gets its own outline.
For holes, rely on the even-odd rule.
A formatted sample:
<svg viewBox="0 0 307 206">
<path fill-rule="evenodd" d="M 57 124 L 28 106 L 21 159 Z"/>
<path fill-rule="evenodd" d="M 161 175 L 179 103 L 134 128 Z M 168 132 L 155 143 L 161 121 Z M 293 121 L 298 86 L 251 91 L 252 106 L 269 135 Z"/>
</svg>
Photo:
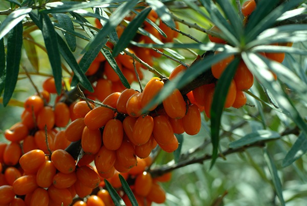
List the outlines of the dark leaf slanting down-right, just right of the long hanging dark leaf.
<svg viewBox="0 0 307 206">
<path fill-rule="evenodd" d="M 74 76 L 78 78 L 82 86 L 89 90 L 90 92 L 94 92 L 94 89 L 92 87 L 92 84 L 90 83 L 89 79 L 86 78 L 84 73 L 82 72 L 81 68 L 79 67 L 73 53 L 68 48 L 68 46 L 65 44 L 64 40 L 57 34 L 57 40 L 59 45 L 59 51 L 62 55 L 62 57 L 65 59 L 67 64 L 70 66 L 70 68 L 74 72 Z"/>
</svg>

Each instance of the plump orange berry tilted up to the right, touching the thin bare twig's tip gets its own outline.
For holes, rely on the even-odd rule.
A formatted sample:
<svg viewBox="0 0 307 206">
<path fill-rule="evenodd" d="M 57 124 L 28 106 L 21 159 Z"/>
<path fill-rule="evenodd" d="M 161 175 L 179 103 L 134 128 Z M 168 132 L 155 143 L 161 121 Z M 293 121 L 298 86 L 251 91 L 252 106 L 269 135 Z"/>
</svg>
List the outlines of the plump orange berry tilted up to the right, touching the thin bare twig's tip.
<svg viewBox="0 0 307 206">
<path fill-rule="evenodd" d="M 114 112 L 105 107 L 96 107 L 84 117 L 84 123 L 90 130 L 97 130 L 105 126 L 108 120 L 114 118 Z"/>
</svg>

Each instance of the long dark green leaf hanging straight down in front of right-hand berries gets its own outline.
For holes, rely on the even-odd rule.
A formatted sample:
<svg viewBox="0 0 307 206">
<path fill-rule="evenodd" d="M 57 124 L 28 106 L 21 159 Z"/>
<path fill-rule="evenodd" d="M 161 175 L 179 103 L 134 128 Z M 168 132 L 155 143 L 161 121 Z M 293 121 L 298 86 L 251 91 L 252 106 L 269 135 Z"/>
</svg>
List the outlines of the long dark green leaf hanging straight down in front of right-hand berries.
<svg viewBox="0 0 307 206">
<path fill-rule="evenodd" d="M 221 126 L 221 116 L 224 109 L 224 103 L 230 87 L 232 77 L 235 74 L 237 66 L 240 59 L 235 58 L 227 66 L 227 68 L 222 73 L 221 78 L 217 81 L 217 85 L 214 91 L 214 96 L 211 106 L 211 142 L 213 146 L 211 166 L 213 167 L 215 160 L 218 156 L 218 142 L 220 141 L 220 126 Z"/>
</svg>

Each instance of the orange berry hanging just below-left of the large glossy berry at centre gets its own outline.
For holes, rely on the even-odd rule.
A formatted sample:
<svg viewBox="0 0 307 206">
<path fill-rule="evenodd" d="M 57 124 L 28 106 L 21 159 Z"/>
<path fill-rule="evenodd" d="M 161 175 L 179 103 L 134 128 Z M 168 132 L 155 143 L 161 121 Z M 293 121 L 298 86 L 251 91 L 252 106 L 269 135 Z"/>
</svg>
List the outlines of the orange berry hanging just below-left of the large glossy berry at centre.
<svg viewBox="0 0 307 206">
<path fill-rule="evenodd" d="M 171 123 L 164 115 L 159 115 L 153 118 L 153 136 L 160 145 L 168 145 L 174 137 L 174 132 Z"/>
</svg>

